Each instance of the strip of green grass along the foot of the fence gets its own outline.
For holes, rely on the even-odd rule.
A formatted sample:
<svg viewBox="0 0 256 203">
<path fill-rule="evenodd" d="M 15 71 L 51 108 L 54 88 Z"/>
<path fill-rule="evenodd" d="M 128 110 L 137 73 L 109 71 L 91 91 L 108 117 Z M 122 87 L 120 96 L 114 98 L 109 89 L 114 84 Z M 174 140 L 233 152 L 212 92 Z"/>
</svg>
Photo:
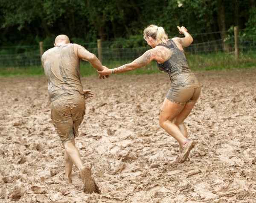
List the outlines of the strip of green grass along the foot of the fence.
<svg viewBox="0 0 256 203">
<path fill-rule="evenodd" d="M 243 68 L 256 68 L 256 52 L 247 52 L 239 56 L 239 60 L 235 61 L 234 53 L 211 53 L 211 54 L 186 54 L 189 67 L 192 71 L 207 71 L 207 70 L 229 70 L 229 69 L 243 69 Z M 132 61 L 132 60 L 131 60 Z M 103 61 L 103 65 L 108 68 L 116 68 L 123 64 L 130 63 L 131 61 Z M 98 75 L 97 71 L 91 67 L 90 63 L 86 61 L 81 62 L 80 66 L 81 76 Z M 137 70 L 123 73 L 131 74 L 154 74 L 160 73 L 157 68 L 156 61 L 152 61 L 145 67 Z M 31 67 L 0 67 L 1 76 L 44 76 L 44 70 L 41 66 Z"/>
</svg>

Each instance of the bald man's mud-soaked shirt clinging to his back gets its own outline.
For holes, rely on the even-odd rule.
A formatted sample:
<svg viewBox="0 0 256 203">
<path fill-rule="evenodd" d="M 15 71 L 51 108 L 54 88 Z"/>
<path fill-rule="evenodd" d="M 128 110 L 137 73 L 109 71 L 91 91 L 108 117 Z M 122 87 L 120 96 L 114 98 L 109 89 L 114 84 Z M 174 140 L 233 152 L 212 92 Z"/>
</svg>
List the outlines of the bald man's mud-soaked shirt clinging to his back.
<svg viewBox="0 0 256 203">
<path fill-rule="evenodd" d="M 50 102 L 62 96 L 84 94 L 80 79 L 80 59 L 75 54 L 74 44 L 48 49 L 42 55 L 42 61 Z"/>
</svg>

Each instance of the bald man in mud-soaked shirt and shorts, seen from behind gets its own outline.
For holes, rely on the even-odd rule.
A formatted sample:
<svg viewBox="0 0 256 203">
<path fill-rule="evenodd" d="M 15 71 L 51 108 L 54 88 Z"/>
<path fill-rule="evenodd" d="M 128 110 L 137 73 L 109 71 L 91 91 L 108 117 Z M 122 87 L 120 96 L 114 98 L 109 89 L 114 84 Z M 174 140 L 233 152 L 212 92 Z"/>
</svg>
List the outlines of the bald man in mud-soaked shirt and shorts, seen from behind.
<svg viewBox="0 0 256 203">
<path fill-rule="evenodd" d="M 75 146 L 75 136 L 85 114 L 85 99 L 93 96 L 90 90 L 83 90 L 80 79 L 80 62 L 88 61 L 96 70 L 103 70 L 99 59 L 83 46 L 70 44 L 66 35 L 58 35 L 54 47 L 42 55 L 44 73 L 48 82 L 51 104 L 51 118 L 64 147 L 63 180 L 72 183 L 73 164 L 79 170 L 84 183 L 84 192 L 98 191 L 91 169 L 84 166 Z"/>
</svg>

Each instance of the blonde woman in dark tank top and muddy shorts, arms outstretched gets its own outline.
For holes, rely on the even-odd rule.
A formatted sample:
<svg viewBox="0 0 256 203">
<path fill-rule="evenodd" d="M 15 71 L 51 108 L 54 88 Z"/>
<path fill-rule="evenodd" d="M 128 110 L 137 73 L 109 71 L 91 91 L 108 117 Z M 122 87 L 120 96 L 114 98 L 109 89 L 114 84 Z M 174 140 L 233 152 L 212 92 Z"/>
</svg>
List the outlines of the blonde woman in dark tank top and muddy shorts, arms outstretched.
<svg viewBox="0 0 256 203">
<path fill-rule="evenodd" d="M 163 27 L 150 25 L 144 29 L 143 38 L 152 49 L 142 56 L 121 67 L 98 71 L 100 75 L 125 73 L 143 67 L 151 61 L 157 61 L 159 70 L 166 72 L 171 81 L 171 87 L 160 109 L 160 126 L 174 137 L 180 145 L 180 153 L 174 162 L 183 163 L 194 148 L 195 141 L 188 139 L 184 120 L 191 112 L 201 92 L 200 84 L 191 72 L 183 48 L 193 42 L 192 36 L 185 27 L 179 27 L 184 38 L 168 39 Z"/>
</svg>

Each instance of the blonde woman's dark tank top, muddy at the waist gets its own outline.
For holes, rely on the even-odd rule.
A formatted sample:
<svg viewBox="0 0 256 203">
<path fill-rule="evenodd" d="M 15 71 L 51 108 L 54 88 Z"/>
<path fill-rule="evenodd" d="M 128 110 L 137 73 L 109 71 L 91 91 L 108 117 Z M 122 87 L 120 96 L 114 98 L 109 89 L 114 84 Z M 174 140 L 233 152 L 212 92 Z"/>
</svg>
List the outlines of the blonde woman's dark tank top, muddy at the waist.
<svg viewBox="0 0 256 203">
<path fill-rule="evenodd" d="M 183 87 L 200 87 L 200 84 L 194 73 L 189 68 L 184 52 L 180 51 L 176 43 L 170 39 L 165 44 L 158 44 L 171 50 L 172 56 L 163 64 L 157 63 L 159 70 L 169 75 L 172 85 Z"/>
</svg>

